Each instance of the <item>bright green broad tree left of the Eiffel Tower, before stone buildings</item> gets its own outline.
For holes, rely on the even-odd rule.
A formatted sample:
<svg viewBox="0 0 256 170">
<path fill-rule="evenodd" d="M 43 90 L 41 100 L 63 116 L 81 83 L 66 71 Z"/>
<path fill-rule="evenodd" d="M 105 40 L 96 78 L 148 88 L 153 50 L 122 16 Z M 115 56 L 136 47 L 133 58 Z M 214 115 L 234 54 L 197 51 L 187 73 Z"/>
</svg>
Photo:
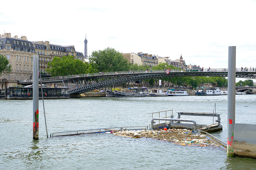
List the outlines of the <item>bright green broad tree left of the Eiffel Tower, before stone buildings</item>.
<svg viewBox="0 0 256 170">
<path fill-rule="evenodd" d="M 81 60 L 74 59 L 74 56 L 62 56 L 54 57 L 51 62 L 48 63 L 50 68 L 46 71 L 51 74 L 51 76 L 66 76 L 71 74 L 84 74 L 88 68 L 88 63 L 84 63 Z M 87 68 L 86 68 L 87 67 Z"/>
</svg>

